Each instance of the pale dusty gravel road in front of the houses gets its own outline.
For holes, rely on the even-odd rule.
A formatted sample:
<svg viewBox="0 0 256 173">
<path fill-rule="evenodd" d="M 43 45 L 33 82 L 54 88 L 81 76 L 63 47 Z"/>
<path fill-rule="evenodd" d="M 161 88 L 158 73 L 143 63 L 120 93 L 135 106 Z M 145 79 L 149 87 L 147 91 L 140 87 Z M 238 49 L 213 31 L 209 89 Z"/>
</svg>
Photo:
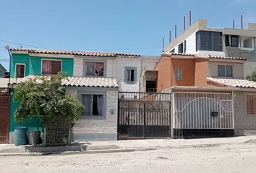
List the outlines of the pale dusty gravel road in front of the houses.
<svg viewBox="0 0 256 173">
<path fill-rule="evenodd" d="M 112 154 L 1 156 L 0 172 L 256 172 L 256 143 Z"/>
</svg>

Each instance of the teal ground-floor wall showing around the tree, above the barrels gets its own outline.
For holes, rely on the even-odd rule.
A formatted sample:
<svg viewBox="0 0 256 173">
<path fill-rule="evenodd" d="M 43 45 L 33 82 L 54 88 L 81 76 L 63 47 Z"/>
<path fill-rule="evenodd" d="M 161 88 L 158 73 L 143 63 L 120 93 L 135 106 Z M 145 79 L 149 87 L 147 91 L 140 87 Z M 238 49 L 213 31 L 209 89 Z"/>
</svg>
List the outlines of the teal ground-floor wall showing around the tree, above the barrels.
<svg viewBox="0 0 256 173">
<path fill-rule="evenodd" d="M 11 89 L 11 105 L 10 105 L 10 118 L 9 118 L 9 132 L 14 131 L 14 128 L 18 127 L 19 124 L 14 121 L 14 111 L 20 105 L 18 102 L 13 101 L 14 89 Z M 43 122 L 40 122 L 42 117 L 27 118 L 22 122 L 22 126 L 27 127 L 28 130 L 43 130 Z"/>
</svg>

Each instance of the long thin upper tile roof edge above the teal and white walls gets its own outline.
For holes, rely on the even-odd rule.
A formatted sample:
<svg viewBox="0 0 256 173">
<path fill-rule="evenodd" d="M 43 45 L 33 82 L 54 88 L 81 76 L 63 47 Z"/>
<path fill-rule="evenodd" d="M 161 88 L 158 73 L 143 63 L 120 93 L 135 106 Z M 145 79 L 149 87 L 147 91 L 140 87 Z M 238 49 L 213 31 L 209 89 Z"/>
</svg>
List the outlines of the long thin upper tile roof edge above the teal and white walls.
<svg viewBox="0 0 256 173">
<path fill-rule="evenodd" d="M 52 49 L 26 49 L 12 48 L 11 51 L 28 51 L 29 53 L 48 53 L 48 54 L 65 54 L 76 56 L 140 56 L 137 53 L 110 53 L 110 52 L 90 52 L 83 50 L 52 50 Z"/>
</svg>

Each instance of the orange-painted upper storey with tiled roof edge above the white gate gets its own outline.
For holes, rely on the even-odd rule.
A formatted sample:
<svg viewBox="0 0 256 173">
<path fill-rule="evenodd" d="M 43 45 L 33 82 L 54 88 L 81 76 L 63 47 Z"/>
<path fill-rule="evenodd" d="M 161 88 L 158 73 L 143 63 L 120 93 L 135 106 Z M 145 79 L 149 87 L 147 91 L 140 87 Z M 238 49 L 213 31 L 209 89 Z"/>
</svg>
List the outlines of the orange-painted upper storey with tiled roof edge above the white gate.
<svg viewBox="0 0 256 173">
<path fill-rule="evenodd" d="M 157 91 L 171 86 L 222 86 L 210 78 L 244 79 L 245 61 L 244 58 L 163 53 L 154 69 L 158 72 Z M 224 74 L 220 71 L 222 67 Z"/>
</svg>

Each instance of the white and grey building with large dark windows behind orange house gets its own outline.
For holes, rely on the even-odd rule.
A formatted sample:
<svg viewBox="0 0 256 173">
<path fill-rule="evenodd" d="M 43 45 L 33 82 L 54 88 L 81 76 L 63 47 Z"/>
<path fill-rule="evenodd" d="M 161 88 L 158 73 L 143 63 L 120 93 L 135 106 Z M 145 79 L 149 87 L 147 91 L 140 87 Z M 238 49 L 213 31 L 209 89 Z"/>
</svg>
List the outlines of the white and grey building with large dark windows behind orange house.
<svg viewBox="0 0 256 173">
<path fill-rule="evenodd" d="M 256 24 L 246 28 L 208 28 L 207 19 L 198 19 L 165 48 L 164 53 L 211 54 L 247 58 L 244 78 L 256 69 Z"/>
</svg>

